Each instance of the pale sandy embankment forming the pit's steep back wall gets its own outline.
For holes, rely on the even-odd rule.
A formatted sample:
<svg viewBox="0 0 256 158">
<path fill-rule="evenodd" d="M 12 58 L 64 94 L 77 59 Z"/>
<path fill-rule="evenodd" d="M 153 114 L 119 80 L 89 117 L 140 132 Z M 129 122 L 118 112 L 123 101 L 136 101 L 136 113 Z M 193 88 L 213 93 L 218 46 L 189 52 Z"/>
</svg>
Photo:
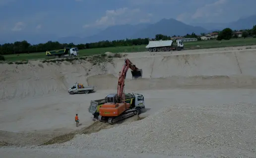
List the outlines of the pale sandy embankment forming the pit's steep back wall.
<svg viewBox="0 0 256 158">
<path fill-rule="evenodd" d="M 131 80 L 128 70 L 126 89 L 161 89 L 182 87 L 256 88 L 256 51 L 227 53 L 206 52 L 157 55 L 128 58 L 143 70 L 143 79 Z M 118 72 L 124 58 L 113 63 L 93 65 L 81 60 L 70 63 L 1 64 L 0 99 L 12 99 L 52 93 L 66 93 L 75 82 L 94 85 L 97 90 L 116 89 Z"/>
</svg>

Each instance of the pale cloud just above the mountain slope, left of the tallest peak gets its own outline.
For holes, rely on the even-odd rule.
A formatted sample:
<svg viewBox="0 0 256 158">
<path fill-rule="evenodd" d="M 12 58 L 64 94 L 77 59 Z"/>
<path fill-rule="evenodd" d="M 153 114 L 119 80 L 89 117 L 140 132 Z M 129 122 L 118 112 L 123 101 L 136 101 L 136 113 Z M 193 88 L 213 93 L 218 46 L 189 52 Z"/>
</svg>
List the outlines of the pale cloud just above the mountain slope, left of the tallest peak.
<svg viewBox="0 0 256 158">
<path fill-rule="evenodd" d="M 128 7 L 116 10 L 107 10 L 106 14 L 92 24 L 86 24 L 83 28 L 88 27 L 108 27 L 113 25 L 122 25 L 128 23 L 140 23 L 150 21 L 152 14 L 144 13 L 140 9 L 129 9 Z M 146 20 L 145 20 L 146 19 Z"/>
</svg>

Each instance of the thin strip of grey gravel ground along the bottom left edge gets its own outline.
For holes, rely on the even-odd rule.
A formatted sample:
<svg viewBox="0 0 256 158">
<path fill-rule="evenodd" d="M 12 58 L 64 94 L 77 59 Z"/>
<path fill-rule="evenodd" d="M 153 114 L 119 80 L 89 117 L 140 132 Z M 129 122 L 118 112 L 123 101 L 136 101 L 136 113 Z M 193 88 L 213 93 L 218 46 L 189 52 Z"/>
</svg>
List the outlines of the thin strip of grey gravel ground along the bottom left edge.
<svg viewBox="0 0 256 158">
<path fill-rule="evenodd" d="M 15 151 L 13 151 L 15 150 Z M 78 149 L 0 149 L 1 158 L 194 158 Z M 197 157 L 202 158 L 202 157 Z"/>
</svg>

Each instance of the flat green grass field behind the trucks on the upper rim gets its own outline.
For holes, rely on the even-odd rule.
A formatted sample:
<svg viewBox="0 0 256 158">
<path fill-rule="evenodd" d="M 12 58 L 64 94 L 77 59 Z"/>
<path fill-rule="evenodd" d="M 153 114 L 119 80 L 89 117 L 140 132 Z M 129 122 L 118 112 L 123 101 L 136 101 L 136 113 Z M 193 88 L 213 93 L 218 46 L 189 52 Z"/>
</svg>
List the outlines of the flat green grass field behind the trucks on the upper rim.
<svg viewBox="0 0 256 158">
<path fill-rule="evenodd" d="M 221 47 L 235 47 L 235 46 L 250 46 L 256 45 L 256 39 L 254 38 L 239 38 L 231 39 L 228 41 L 222 40 L 207 40 L 197 42 L 184 42 L 185 50 L 194 49 L 196 46 L 200 46 L 200 49 L 209 48 L 221 48 Z M 98 48 L 98 49 L 87 49 L 80 50 L 79 56 L 102 54 L 105 52 L 111 53 L 132 53 L 132 52 L 144 52 L 147 51 L 146 45 L 141 46 L 125 46 L 125 47 L 110 47 L 110 48 Z M 47 59 L 46 53 L 30 53 L 30 54 L 10 54 L 4 55 L 6 61 L 18 61 L 18 60 L 31 60 L 31 59 Z"/>
</svg>

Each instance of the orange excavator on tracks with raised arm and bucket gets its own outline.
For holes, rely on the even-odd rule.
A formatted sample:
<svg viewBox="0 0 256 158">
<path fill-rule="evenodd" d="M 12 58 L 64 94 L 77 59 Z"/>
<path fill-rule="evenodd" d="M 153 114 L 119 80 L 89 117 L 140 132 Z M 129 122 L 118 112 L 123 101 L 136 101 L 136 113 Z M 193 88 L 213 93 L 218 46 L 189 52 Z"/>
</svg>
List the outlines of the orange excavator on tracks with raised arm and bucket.
<svg viewBox="0 0 256 158">
<path fill-rule="evenodd" d="M 105 98 L 105 103 L 99 108 L 99 121 L 108 120 L 110 124 L 115 124 L 120 120 L 138 114 L 137 109 L 125 102 L 124 87 L 126 74 L 129 68 L 131 69 L 133 79 L 142 77 L 142 70 L 138 69 L 128 58 L 126 58 L 123 69 L 119 72 L 117 94 L 111 94 Z"/>
</svg>

